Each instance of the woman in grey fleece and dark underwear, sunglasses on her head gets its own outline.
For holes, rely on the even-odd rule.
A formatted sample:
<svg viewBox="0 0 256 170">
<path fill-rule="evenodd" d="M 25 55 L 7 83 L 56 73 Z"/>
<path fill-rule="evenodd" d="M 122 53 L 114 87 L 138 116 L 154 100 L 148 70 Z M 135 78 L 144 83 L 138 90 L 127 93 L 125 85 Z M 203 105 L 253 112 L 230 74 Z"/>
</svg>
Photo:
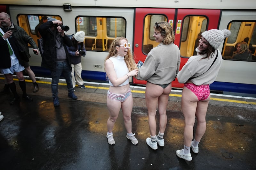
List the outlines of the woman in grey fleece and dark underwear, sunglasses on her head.
<svg viewBox="0 0 256 170">
<path fill-rule="evenodd" d="M 154 35 L 159 45 L 151 49 L 140 67 L 137 79 L 147 80 L 146 104 L 150 138 L 146 139 L 152 149 L 164 146 L 164 131 L 167 123 L 166 107 L 172 90 L 172 81 L 180 69 L 180 49 L 173 44 L 175 39 L 172 26 L 166 22 L 156 22 Z M 159 132 L 156 136 L 156 107 L 159 111 Z"/>
</svg>

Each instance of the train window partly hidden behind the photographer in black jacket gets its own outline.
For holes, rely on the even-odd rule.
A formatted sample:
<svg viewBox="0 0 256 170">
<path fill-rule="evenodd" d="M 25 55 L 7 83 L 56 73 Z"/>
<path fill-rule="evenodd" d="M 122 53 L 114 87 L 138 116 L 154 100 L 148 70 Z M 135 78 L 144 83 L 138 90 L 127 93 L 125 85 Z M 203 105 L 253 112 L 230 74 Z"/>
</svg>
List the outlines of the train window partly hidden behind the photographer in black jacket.
<svg viewBox="0 0 256 170">
<path fill-rule="evenodd" d="M 60 16 L 42 16 L 42 15 L 19 15 L 18 16 L 18 25 L 22 27 L 30 37 L 34 39 L 37 44 L 37 39 L 40 38 L 40 34 L 36 34 L 36 26 L 39 23 L 43 23 L 44 18 L 56 18 L 61 20 Z M 44 19 L 45 22 L 45 19 Z"/>
</svg>

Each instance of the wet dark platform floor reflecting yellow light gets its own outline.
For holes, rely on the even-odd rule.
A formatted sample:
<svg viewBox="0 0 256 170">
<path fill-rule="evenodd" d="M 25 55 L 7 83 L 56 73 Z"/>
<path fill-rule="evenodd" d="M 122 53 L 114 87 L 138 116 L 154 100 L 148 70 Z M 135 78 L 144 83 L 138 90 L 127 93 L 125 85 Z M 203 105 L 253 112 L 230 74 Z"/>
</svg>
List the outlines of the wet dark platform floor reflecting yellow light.
<svg viewBox="0 0 256 170">
<path fill-rule="evenodd" d="M 32 92 L 32 83 L 26 83 L 32 102 L 21 99 L 20 103 L 9 105 L 11 94 L 0 97 L 0 111 L 4 115 L 0 122 L 1 169 L 256 169 L 255 99 L 242 99 L 247 103 L 230 102 L 241 99 L 228 97 L 224 97 L 227 101 L 211 100 L 199 153 L 192 152 L 193 160 L 185 161 L 175 154 L 183 148 L 184 129 L 178 92 L 171 92 L 176 95 L 170 96 L 168 103 L 165 146 L 155 151 L 146 144 L 148 116 L 145 94 L 140 89 L 132 87 L 132 132 L 139 143 L 133 145 L 126 139 L 120 111 L 113 129 L 116 144 L 109 145 L 107 85 L 76 87 L 78 100 L 71 100 L 62 82 L 60 107 L 53 107 L 50 81 L 38 82 L 40 89 L 36 93 Z M 4 80 L 0 79 L 0 89 L 3 85 Z M 156 119 L 158 122 L 158 115 Z"/>
</svg>

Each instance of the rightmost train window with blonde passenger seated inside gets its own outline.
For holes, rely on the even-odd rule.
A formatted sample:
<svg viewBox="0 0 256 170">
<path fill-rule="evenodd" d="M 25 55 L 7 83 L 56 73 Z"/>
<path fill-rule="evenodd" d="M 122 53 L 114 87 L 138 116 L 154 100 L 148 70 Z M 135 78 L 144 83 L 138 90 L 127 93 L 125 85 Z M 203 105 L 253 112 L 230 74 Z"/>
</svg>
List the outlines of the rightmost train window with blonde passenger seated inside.
<svg viewBox="0 0 256 170">
<path fill-rule="evenodd" d="M 228 24 L 228 29 L 230 30 L 231 35 L 224 44 L 222 52 L 223 59 L 255 61 L 256 22 L 232 21 Z M 241 42 L 246 42 L 246 44 L 240 44 Z M 243 50 L 237 51 L 237 46 L 240 48 L 248 47 L 249 52 L 246 52 L 247 50 L 245 52 Z"/>
</svg>

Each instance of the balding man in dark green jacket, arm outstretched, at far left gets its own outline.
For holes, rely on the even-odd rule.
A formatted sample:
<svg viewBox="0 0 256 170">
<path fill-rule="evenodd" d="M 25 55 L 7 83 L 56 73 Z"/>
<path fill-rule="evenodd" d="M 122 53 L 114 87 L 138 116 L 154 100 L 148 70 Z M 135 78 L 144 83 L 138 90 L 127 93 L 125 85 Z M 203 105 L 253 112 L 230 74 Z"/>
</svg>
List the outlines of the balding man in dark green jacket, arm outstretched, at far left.
<svg viewBox="0 0 256 170">
<path fill-rule="evenodd" d="M 28 33 L 26 33 L 26 31 L 23 28 L 21 28 L 20 26 L 16 26 L 11 22 L 11 18 L 9 14 L 5 12 L 1 12 L 0 20 L 3 28 L 12 29 L 12 32 L 13 32 L 12 35 L 17 39 L 22 49 L 26 52 L 26 55 L 28 58 L 30 58 L 28 44 L 31 45 L 35 54 L 38 55 L 39 51 L 37 49 L 36 42 L 33 40 L 32 37 L 28 35 Z M 27 61 L 22 61 L 20 64 L 25 67 L 25 71 L 28 73 L 29 78 L 31 78 L 33 82 L 33 85 L 34 85 L 33 92 L 37 92 L 39 90 L 39 87 L 38 87 L 38 84 L 36 83 L 36 76 L 35 76 L 35 73 L 30 69 L 29 63 Z"/>
</svg>

